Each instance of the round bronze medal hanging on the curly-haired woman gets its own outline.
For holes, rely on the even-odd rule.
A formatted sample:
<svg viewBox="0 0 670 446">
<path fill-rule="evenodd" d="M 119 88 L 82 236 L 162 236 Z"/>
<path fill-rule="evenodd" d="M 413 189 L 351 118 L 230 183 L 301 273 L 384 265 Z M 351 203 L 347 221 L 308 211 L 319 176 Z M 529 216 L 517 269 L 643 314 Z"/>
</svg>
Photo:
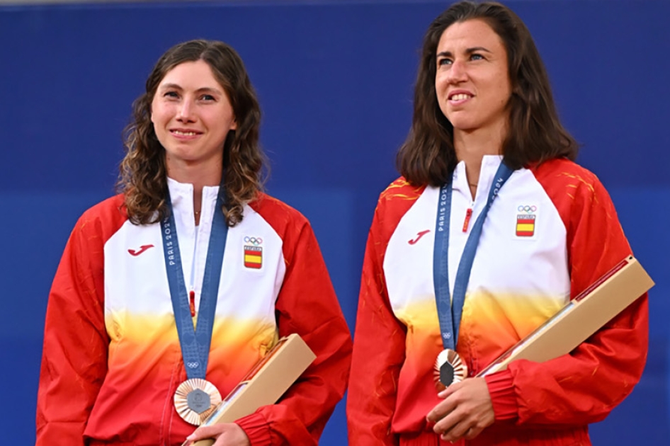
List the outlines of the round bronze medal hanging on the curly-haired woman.
<svg viewBox="0 0 670 446">
<path fill-rule="evenodd" d="M 179 384 L 174 407 L 184 421 L 199 426 L 221 402 L 221 394 L 211 382 L 193 378 Z"/>
</svg>

